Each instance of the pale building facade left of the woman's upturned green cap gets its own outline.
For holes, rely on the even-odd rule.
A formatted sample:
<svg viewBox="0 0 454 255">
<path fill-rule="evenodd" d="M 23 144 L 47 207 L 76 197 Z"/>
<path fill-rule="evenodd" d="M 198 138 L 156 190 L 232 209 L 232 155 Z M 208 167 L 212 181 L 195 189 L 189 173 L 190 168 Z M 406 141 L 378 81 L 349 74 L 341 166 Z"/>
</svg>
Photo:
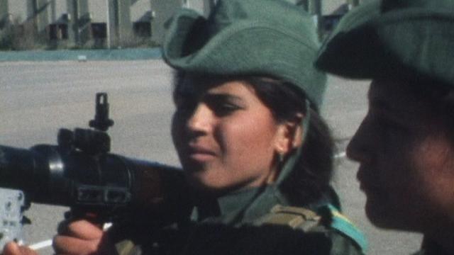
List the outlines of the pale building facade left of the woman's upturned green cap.
<svg viewBox="0 0 454 255">
<path fill-rule="evenodd" d="M 0 30 L 33 27 L 49 42 L 122 47 L 162 42 L 164 23 L 179 7 L 208 13 L 215 0 L 0 0 Z"/>
</svg>

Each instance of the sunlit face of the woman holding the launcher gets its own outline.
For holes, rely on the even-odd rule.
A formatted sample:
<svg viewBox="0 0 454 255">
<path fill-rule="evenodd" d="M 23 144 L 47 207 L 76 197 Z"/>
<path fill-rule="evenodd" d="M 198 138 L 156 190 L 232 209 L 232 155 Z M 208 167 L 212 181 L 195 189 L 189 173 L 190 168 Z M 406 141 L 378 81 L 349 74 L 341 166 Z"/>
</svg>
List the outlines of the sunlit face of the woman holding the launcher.
<svg viewBox="0 0 454 255">
<path fill-rule="evenodd" d="M 275 120 L 250 84 L 182 79 L 174 92 L 172 138 L 189 184 L 224 192 L 275 181 L 277 153 L 288 149 Z"/>
</svg>

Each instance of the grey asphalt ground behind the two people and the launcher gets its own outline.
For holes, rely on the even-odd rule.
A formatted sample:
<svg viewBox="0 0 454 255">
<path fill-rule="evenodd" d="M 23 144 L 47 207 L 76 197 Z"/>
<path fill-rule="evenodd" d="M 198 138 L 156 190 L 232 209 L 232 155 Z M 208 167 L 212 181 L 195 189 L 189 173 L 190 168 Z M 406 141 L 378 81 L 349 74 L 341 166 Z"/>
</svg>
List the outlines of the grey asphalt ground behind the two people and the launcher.
<svg viewBox="0 0 454 255">
<path fill-rule="evenodd" d="M 94 95 L 109 94 L 111 151 L 178 165 L 170 139 L 172 71 L 159 60 L 128 62 L 0 62 L 0 145 L 55 144 L 59 128 L 87 128 Z M 419 234 L 377 229 L 365 218 L 365 196 L 355 179 L 357 164 L 345 159 L 345 145 L 367 111 L 367 81 L 330 77 L 322 114 L 338 144 L 338 189 L 344 212 L 367 235 L 368 254 L 410 254 Z M 67 208 L 33 204 L 26 215 L 26 244 L 46 244 Z M 40 254 L 52 254 L 47 246 Z"/>
</svg>

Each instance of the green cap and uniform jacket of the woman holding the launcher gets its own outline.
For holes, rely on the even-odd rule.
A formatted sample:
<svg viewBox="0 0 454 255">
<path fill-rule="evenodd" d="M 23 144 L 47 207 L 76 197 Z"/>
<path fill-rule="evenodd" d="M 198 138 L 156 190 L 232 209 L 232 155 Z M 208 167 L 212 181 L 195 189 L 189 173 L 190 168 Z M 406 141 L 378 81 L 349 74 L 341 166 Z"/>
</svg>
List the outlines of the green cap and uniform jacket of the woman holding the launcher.
<svg viewBox="0 0 454 255">
<path fill-rule="evenodd" d="M 287 81 L 305 95 L 306 106 L 318 109 L 326 86 L 326 75 L 313 67 L 318 48 L 313 17 L 301 7 L 279 0 L 220 0 L 208 18 L 189 9 L 177 12 L 167 23 L 162 53 L 181 72 Z M 365 239 L 334 206 L 334 192 L 311 204 L 291 203 L 282 193 L 281 183 L 296 171 L 300 153 L 287 159 L 270 186 L 219 198 L 192 194 L 192 214 L 174 224 L 114 228 L 118 253 L 364 253 Z M 128 239 L 121 241 L 115 234 L 120 232 Z"/>
</svg>

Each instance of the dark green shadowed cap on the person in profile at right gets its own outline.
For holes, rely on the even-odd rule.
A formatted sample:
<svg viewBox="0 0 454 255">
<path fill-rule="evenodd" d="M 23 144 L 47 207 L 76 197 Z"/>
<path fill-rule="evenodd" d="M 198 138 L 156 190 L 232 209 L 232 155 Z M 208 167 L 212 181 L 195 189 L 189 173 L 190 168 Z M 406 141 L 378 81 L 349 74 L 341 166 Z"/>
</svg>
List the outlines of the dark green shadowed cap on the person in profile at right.
<svg viewBox="0 0 454 255">
<path fill-rule="evenodd" d="M 454 86 L 454 1 L 371 1 L 347 13 L 316 67 L 356 79 L 421 75 Z"/>
</svg>

